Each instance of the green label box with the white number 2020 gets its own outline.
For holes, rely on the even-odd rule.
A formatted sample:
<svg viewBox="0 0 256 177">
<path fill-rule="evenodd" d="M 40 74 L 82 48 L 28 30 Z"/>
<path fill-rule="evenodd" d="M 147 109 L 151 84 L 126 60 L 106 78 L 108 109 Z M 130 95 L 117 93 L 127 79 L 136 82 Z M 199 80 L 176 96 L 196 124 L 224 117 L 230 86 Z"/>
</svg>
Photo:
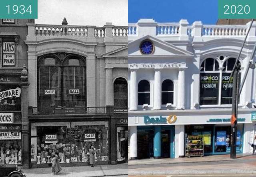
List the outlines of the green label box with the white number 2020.
<svg viewBox="0 0 256 177">
<path fill-rule="evenodd" d="M 218 0 L 218 18 L 256 18 L 256 0 Z"/>
</svg>

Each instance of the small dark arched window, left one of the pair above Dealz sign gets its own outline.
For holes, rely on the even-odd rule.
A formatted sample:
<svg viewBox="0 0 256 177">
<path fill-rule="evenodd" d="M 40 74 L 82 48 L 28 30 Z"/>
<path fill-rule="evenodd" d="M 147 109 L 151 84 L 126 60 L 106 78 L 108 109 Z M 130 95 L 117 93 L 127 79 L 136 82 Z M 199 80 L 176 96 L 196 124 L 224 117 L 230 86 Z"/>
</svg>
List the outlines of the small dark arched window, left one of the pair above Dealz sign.
<svg viewBox="0 0 256 177">
<path fill-rule="evenodd" d="M 141 80 L 138 84 L 138 105 L 150 104 L 150 84 Z"/>
</svg>

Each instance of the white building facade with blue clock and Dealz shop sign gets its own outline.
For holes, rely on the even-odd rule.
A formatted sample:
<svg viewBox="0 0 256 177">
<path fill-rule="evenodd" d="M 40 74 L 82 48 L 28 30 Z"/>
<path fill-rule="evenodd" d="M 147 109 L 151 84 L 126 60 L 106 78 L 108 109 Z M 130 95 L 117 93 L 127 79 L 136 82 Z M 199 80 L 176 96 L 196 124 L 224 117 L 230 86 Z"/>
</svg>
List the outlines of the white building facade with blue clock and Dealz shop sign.
<svg viewBox="0 0 256 177">
<path fill-rule="evenodd" d="M 225 87 L 249 25 L 128 25 L 129 159 L 230 153 L 232 82 Z M 239 60 L 241 80 L 255 41 L 254 22 Z M 250 69 L 238 105 L 237 153 L 252 151 L 255 79 Z M 190 138 L 204 146 L 188 147 Z"/>
</svg>

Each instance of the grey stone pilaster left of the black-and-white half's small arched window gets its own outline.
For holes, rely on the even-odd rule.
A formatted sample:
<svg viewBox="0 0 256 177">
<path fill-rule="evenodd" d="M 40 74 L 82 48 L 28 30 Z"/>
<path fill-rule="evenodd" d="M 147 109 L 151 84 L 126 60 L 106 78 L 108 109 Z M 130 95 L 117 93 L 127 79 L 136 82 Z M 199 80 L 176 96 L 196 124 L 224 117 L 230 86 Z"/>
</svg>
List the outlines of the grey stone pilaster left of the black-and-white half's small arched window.
<svg viewBox="0 0 256 177">
<path fill-rule="evenodd" d="M 106 105 L 114 105 L 114 91 L 112 83 L 112 69 L 105 68 L 106 71 Z"/>
</svg>

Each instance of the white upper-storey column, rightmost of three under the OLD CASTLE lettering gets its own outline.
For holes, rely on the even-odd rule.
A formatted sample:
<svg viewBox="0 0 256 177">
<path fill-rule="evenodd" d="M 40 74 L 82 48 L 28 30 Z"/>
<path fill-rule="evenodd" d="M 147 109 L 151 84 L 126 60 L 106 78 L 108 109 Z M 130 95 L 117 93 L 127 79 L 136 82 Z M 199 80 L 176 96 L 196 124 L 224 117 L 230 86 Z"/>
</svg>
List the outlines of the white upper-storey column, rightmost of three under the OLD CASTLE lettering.
<svg viewBox="0 0 256 177">
<path fill-rule="evenodd" d="M 185 109 L 185 69 L 179 68 L 177 109 Z"/>
</svg>

